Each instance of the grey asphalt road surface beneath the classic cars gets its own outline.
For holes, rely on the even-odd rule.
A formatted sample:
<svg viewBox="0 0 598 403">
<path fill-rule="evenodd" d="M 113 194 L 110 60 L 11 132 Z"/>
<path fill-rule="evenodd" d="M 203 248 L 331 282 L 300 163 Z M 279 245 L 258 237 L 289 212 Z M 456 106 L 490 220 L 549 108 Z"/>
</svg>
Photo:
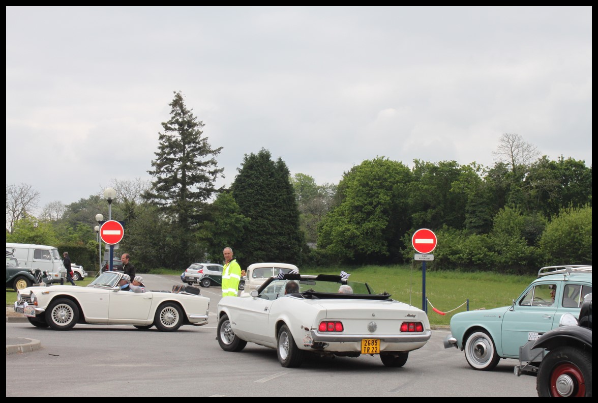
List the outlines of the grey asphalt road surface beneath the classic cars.
<svg viewBox="0 0 598 403">
<path fill-rule="evenodd" d="M 151 289 L 181 284 L 176 276 L 144 274 Z M 132 326 L 77 325 L 71 331 L 7 323 L 8 337 L 33 338 L 42 348 L 7 354 L 9 396 L 537 396 L 536 378 L 516 377 L 517 360 L 474 371 L 463 352 L 444 349 L 447 330 L 410 353 L 402 368 L 378 356 L 310 357 L 300 368 L 280 366 L 276 351 L 248 344 L 224 352 L 216 337 L 218 287 L 202 289 L 210 323 L 178 332 Z"/>
</svg>

